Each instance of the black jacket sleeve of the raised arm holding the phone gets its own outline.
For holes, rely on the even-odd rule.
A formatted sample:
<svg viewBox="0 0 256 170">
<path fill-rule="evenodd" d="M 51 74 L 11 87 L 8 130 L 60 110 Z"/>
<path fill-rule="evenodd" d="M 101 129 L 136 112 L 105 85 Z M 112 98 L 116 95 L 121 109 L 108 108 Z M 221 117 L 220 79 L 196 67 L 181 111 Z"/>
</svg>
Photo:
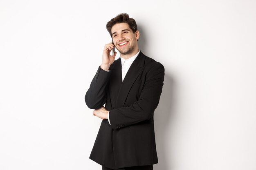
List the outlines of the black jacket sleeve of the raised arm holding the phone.
<svg viewBox="0 0 256 170">
<path fill-rule="evenodd" d="M 96 75 L 92 79 L 90 88 L 85 94 L 85 103 L 90 109 L 98 109 L 106 103 L 106 86 L 111 71 L 105 71 L 99 66 Z"/>
</svg>

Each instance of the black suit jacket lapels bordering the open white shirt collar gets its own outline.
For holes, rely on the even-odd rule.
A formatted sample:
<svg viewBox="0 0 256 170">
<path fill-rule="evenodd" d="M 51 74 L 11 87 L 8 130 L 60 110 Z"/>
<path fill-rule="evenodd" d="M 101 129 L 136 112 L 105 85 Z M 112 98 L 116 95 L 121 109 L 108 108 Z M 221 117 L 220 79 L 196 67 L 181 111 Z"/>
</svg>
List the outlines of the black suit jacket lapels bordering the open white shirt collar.
<svg viewBox="0 0 256 170">
<path fill-rule="evenodd" d="M 133 83 L 139 76 L 139 73 L 141 72 L 144 66 L 144 62 L 145 62 L 145 55 L 140 51 L 139 55 L 136 57 L 134 62 L 132 62 L 132 65 L 130 66 L 128 72 L 126 73 L 124 81 L 121 84 L 119 93 L 117 95 L 116 105 L 115 105 L 117 108 L 124 106 L 124 103 L 126 102 L 126 98 L 130 91 L 130 88 L 132 87 Z M 120 65 L 121 65 L 121 59 L 120 59 Z M 119 74 L 121 74 L 121 68 L 120 68 Z M 121 79 L 122 79 L 122 75 L 121 75 Z"/>
</svg>

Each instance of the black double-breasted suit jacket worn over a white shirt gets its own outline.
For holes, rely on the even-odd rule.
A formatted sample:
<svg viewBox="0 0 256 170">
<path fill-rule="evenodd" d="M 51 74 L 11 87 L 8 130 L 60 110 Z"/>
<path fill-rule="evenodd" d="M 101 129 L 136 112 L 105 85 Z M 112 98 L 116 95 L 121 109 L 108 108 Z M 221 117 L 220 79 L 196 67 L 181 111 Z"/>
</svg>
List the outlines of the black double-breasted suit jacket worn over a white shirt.
<svg viewBox="0 0 256 170">
<path fill-rule="evenodd" d="M 111 126 L 102 120 L 90 159 L 112 169 L 158 163 L 153 115 L 164 66 L 140 51 L 123 82 L 120 58 L 109 70 L 98 68 L 85 95 L 89 108 L 110 110 Z"/>
</svg>

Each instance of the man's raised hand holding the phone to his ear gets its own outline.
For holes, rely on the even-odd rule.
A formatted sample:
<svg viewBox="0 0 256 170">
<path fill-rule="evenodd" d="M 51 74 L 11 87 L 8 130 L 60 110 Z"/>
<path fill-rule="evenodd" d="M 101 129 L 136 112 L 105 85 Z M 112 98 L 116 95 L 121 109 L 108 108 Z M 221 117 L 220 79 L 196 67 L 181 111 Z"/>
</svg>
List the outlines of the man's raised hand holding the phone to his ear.
<svg viewBox="0 0 256 170">
<path fill-rule="evenodd" d="M 114 48 L 114 44 L 109 43 L 104 46 L 103 54 L 102 54 L 102 63 L 101 63 L 101 69 L 108 71 L 109 67 L 113 62 L 115 61 L 115 57 L 117 55 L 117 52 L 115 52 L 114 55 L 110 55 L 111 49 Z"/>
</svg>

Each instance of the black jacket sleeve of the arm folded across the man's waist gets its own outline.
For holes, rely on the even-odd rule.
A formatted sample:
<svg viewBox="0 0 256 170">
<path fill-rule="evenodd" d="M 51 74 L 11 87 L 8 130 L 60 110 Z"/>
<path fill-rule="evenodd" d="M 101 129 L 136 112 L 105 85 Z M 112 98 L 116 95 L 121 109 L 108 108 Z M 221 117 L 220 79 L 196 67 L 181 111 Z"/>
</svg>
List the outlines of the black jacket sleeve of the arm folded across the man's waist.
<svg viewBox="0 0 256 170">
<path fill-rule="evenodd" d="M 110 110 L 112 129 L 123 128 L 153 117 L 162 93 L 163 82 L 164 66 L 157 63 L 146 74 L 146 81 L 138 101 L 128 107 Z"/>
</svg>

